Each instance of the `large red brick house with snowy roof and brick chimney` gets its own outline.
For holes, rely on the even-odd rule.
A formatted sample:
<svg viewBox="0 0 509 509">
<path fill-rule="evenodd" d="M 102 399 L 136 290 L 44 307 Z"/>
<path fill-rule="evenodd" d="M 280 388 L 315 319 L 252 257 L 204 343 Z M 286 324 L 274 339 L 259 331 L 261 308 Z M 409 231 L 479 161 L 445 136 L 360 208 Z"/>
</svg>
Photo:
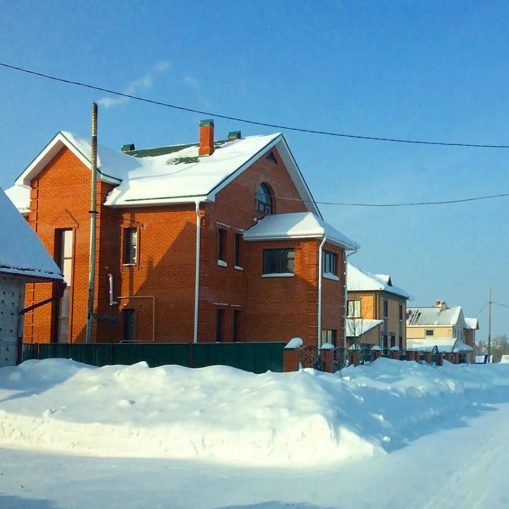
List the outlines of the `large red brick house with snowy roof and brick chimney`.
<svg viewBox="0 0 509 509">
<path fill-rule="evenodd" d="M 8 190 L 68 284 L 27 315 L 25 342 L 84 341 L 90 159 L 59 132 Z M 97 178 L 94 342 L 343 344 L 357 245 L 323 221 L 282 134 L 217 142 L 202 121 L 199 143 L 99 146 Z M 26 304 L 48 292 L 29 285 Z"/>
</svg>

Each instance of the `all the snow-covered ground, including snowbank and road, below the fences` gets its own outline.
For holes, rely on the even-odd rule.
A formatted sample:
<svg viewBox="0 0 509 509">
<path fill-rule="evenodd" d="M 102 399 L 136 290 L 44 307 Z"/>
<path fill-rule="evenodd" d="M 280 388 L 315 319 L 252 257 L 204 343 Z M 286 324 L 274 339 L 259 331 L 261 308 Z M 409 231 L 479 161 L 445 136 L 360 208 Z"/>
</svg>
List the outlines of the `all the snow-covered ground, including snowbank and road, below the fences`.
<svg viewBox="0 0 509 509">
<path fill-rule="evenodd" d="M 0 507 L 504 507 L 507 422 L 507 364 L 29 361 L 0 370 Z"/>
</svg>

